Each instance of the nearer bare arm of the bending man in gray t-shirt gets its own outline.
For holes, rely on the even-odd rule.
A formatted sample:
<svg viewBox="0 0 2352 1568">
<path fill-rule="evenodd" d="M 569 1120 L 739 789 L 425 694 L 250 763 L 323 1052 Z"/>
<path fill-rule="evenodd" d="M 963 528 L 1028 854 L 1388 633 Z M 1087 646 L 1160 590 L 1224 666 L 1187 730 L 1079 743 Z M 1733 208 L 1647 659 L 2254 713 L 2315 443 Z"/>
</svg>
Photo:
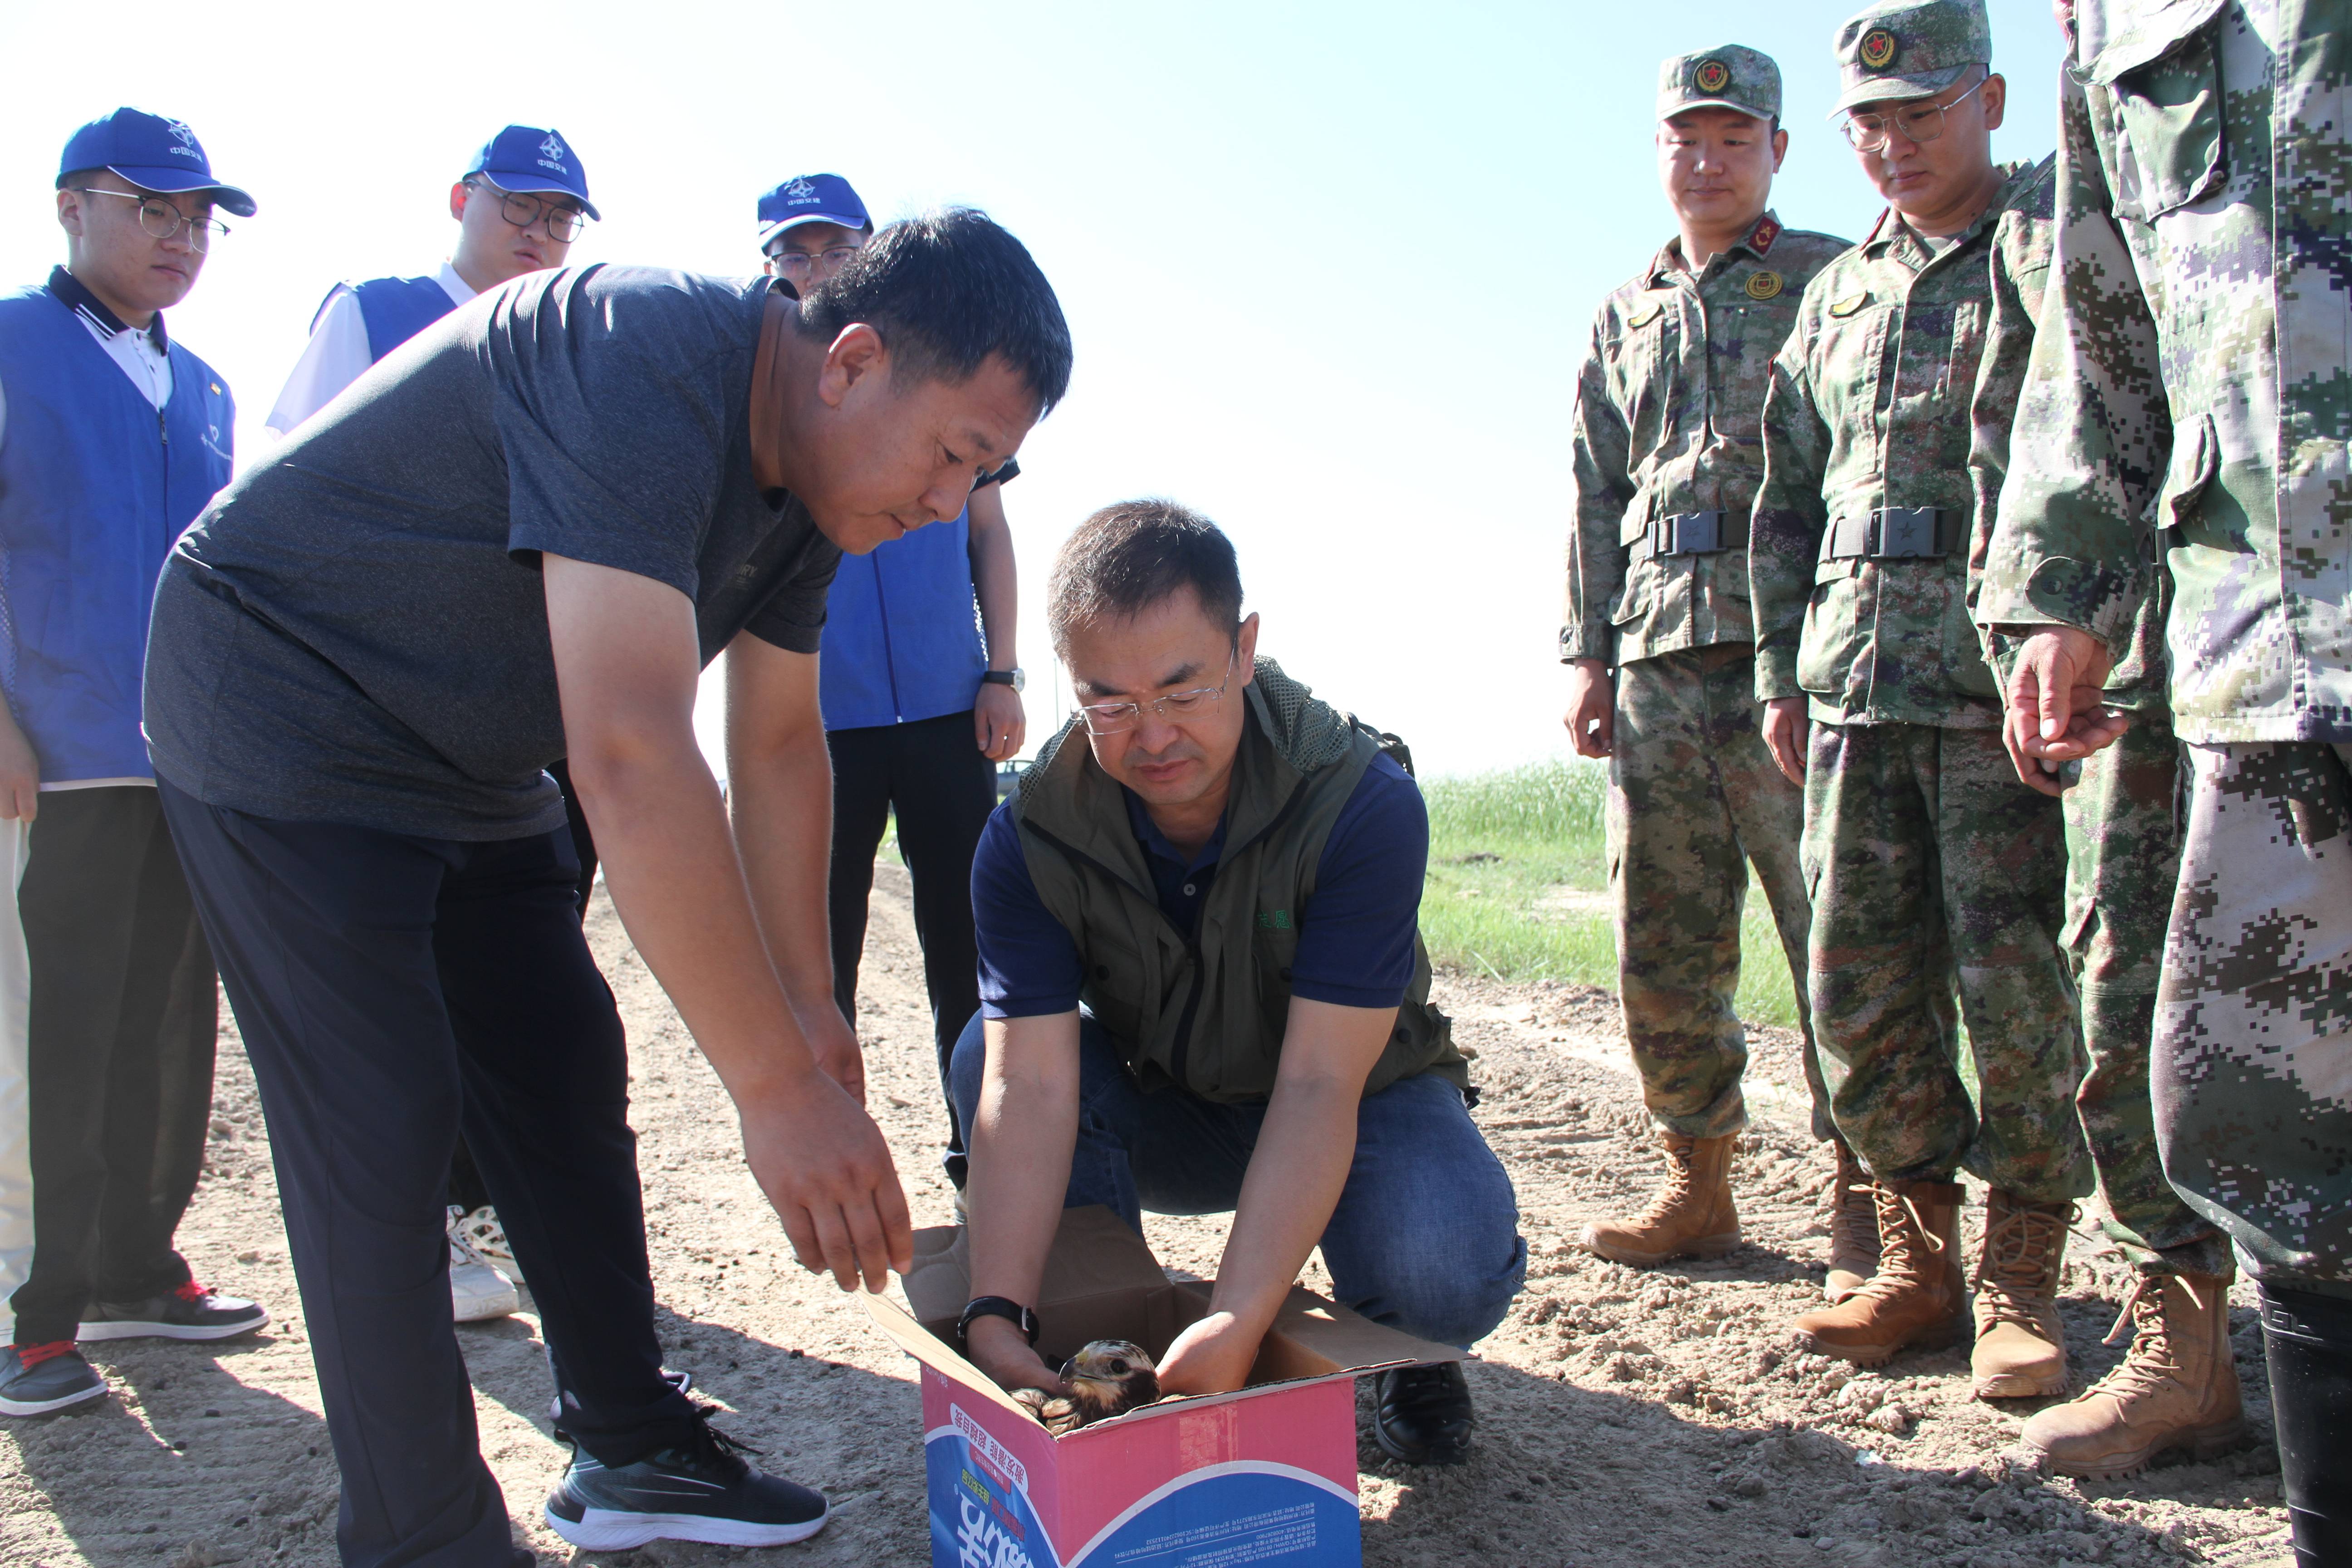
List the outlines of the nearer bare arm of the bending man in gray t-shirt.
<svg viewBox="0 0 2352 1568">
<path fill-rule="evenodd" d="M 913 1265 L 906 1194 L 870 1117 L 826 1077 L 753 919 L 717 780 L 694 743 L 694 602 L 543 555 L 572 783 L 604 884 L 743 1121 L 743 1157 L 802 1267 L 880 1291 Z"/>
</svg>

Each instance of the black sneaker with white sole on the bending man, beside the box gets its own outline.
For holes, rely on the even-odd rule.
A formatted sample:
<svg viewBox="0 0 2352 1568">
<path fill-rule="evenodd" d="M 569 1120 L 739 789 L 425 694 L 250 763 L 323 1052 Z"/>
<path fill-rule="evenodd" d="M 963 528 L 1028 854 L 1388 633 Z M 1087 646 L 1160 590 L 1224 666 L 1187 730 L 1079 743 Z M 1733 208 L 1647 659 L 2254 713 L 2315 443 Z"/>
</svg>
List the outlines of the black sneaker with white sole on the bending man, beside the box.
<svg viewBox="0 0 2352 1568">
<path fill-rule="evenodd" d="M 821 1493 L 753 1469 L 739 1448 L 713 1432 L 708 1413 L 691 1443 L 619 1469 L 574 1446 L 572 1469 L 548 1493 L 548 1528 L 590 1552 L 628 1552 L 649 1540 L 788 1547 L 826 1528 Z"/>
</svg>

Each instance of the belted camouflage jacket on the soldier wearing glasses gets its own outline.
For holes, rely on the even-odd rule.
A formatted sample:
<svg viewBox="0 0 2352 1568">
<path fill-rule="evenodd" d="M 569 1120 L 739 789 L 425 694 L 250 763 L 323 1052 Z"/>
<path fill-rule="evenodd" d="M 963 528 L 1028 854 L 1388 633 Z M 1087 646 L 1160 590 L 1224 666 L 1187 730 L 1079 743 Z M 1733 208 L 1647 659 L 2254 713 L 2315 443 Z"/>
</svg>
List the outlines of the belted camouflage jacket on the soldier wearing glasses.
<svg viewBox="0 0 2352 1568">
<path fill-rule="evenodd" d="M 1971 404 L 1992 240 L 2011 216 L 2046 228 L 2049 214 L 2049 160 L 2011 165 L 1940 254 L 1889 209 L 1806 287 L 1764 397 L 1757 698 L 1809 696 L 1825 724 L 1999 724 L 1969 616 Z M 1882 524 L 1907 527 L 1891 550 L 1929 559 L 1858 555 Z"/>
</svg>

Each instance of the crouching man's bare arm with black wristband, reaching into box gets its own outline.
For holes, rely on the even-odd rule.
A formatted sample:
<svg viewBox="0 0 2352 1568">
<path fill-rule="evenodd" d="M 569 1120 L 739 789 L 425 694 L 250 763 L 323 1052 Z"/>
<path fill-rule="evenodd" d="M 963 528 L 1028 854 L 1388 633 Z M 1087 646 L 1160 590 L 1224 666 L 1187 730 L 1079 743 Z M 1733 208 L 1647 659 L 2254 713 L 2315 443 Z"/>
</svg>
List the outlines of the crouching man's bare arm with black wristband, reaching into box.
<svg viewBox="0 0 2352 1568">
<path fill-rule="evenodd" d="M 1077 1150 L 1077 1013 L 988 1018 L 988 1067 L 971 1138 L 971 1293 L 1037 1305 Z M 1007 1319 L 971 1326 L 971 1359 L 1007 1387 L 1054 1373 Z"/>
</svg>

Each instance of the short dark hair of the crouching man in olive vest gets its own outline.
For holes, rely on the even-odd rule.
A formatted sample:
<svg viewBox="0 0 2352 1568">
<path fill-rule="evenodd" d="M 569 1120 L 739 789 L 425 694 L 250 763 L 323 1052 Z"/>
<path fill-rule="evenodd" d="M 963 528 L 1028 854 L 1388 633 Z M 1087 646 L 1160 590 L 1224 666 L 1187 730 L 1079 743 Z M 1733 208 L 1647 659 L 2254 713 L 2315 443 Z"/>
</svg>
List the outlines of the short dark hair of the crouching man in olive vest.
<svg viewBox="0 0 2352 1568">
<path fill-rule="evenodd" d="M 1174 501 L 1105 505 L 1054 557 L 1044 590 L 1054 651 L 1068 658 L 1075 628 L 1131 621 L 1185 588 L 1211 623 L 1240 637 L 1242 567 L 1223 529 Z"/>
</svg>

